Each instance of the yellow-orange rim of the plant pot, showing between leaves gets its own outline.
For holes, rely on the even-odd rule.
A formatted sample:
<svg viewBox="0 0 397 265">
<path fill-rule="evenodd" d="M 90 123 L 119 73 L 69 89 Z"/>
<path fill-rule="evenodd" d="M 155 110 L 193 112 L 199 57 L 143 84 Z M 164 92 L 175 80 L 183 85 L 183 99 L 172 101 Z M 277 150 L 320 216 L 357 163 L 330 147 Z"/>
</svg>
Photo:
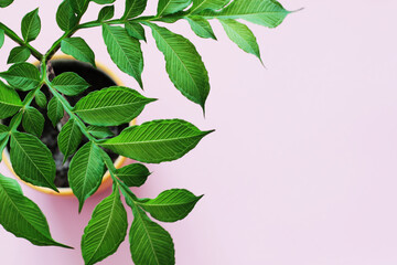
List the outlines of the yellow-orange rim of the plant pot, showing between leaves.
<svg viewBox="0 0 397 265">
<path fill-rule="evenodd" d="M 61 61 L 61 60 L 73 60 L 73 61 L 77 61 L 74 57 L 66 55 L 66 54 L 56 54 L 53 56 L 53 59 L 51 61 Z M 33 63 L 35 65 L 39 64 L 39 62 Z M 97 66 L 98 70 L 103 71 L 106 75 L 108 75 L 115 83 L 117 86 L 124 86 L 121 80 L 112 72 L 110 71 L 107 66 L 105 66 L 104 64 L 101 64 L 100 62 L 95 61 L 95 65 Z M 137 119 L 133 119 L 130 121 L 130 126 L 136 125 Z M 126 157 L 119 156 L 116 161 L 115 161 L 115 167 L 116 168 L 120 168 L 125 161 L 127 160 Z M 23 182 L 24 184 L 29 186 L 30 188 L 45 193 L 45 194 L 50 194 L 50 195 L 56 195 L 56 197 L 74 197 L 72 189 L 68 188 L 57 188 L 60 192 L 55 192 L 54 190 L 51 190 L 50 188 L 44 188 L 44 187 L 37 187 L 37 186 L 33 186 L 31 183 L 28 183 L 25 181 L 23 181 L 13 170 L 11 161 L 10 161 L 10 155 L 8 152 L 7 149 L 3 150 L 3 161 L 4 165 L 7 166 L 7 168 L 10 170 L 10 172 L 17 177 L 17 179 L 19 179 L 21 182 Z M 106 171 L 106 173 L 103 177 L 101 183 L 98 188 L 98 190 L 94 193 L 100 193 L 104 190 L 106 190 L 109 186 L 111 184 L 111 178 L 110 178 L 110 173 L 109 171 Z"/>
</svg>

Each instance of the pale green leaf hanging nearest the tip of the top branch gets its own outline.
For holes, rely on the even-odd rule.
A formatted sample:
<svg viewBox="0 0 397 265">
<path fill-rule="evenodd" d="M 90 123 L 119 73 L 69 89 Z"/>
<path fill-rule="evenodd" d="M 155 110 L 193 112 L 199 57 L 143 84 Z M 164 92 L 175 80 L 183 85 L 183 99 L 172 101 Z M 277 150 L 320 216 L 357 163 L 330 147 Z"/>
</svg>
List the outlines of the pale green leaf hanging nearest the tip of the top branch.
<svg viewBox="0 0 397 265">
<path fill-rule="evenodd" d="M 247 25 L 230 19 L 219 21 L 227 36 L 234 43 L 236 43 L 243 51 L 257 56 L 261 62 L 258 43 L 254 33 L 248 29 Z"/>
</svg>

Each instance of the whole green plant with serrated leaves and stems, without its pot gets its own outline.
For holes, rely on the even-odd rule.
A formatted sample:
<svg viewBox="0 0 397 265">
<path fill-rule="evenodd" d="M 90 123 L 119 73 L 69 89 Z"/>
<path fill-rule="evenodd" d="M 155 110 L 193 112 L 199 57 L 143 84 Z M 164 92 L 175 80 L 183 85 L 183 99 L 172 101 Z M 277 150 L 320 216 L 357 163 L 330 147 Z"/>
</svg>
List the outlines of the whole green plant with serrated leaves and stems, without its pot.
<svg viewBox="0 0 397 265">
<path fill-rule="evenodd" d="M 12 2 L 0 0 L 0 7 L 7 8 Z M 84 231 L 81 247 L 85 264 L 95 264 L 111 255 L 125 240 L 128 222 L 122 198 L 133 214 L 129 242 L 135 264 L 174 264 L 170 234 L 148 214 L 161 222 L 175 222 L 184 219 L 201 197 L 184 189 L 171 189 L 154 199 L 140 199 L 130 187 L 140 187 L 150 174 L 140 162 L 160 163 L 179 159 L 212 130 L 202 131 L 181 119 L 160 119 L 121 127 L 122 130 L 114 134 L 109 127 L 128 124 L 155 99 L 120 85 L 94 89 L 85 95 L 90 84 L 74 70 L 55 75 L 52 59 L 61 50 L 96 67 L 93 50 L 82 38 L 73 35 L 81 29 L 100 26 L 114 63 L 142 87 L 143 56 L 140 45 L 146 41 L 146 28 L 164 55 L 171 82 L 204 112 L 210 83 L 200 54 L 187 39 L 159 23 L 184 19 L 198 36 L 216 39 L 208 20 L 217 19 L 233 42 L 260 60 L 253 32 L 236 19 L 276 28 L 289 11 L 276 0 L 159 0 L 155 15 L 142 15 L 147 0 L 126 0 L 124 15 L 114 19 L 114 2 L 62 1 L 56 22 L 64 34 L 44 54 L 31 44 L 41 30 L 39 9 L 22 19 L 22 38 L 0 22 L 0 47 L 4 36 L 19 44 L 10 52 L 8 63 L 11 66 L 0 73 L 4 81 L 0 82 L 0 118 L 9 118 L 7 125 L 0 125 L 0 153 L 9 146 L 12 168 L 21 180 L 58 192 L 54 183 L 56 165 L 53 153 L 42 138 L 47 117 L 60 130 L 56 138 L 63 160 L 71 160 L 67 179 L 78 199 L 79 211 L 85 200 L 98 190 L 106 170 L 112 181 L 111 194 L 95 208 Z M 90 4 L 104 7 L 97 20 L 81 23 Z M 39 67 L 25 62 L 30 56 L 39 60 Z M 78 95 L 81 97 L 74 103 L 73 98 Z M 86 142 L 82 144 L 82 140 Z M 111 152 L 138 162 L 117 168 Z M 35 245 L 69 247 L 52 239 L 39 206 L 23 195 L 15 180 L 2 174 L 0 223 L 15 236 Z"/>
</svg>

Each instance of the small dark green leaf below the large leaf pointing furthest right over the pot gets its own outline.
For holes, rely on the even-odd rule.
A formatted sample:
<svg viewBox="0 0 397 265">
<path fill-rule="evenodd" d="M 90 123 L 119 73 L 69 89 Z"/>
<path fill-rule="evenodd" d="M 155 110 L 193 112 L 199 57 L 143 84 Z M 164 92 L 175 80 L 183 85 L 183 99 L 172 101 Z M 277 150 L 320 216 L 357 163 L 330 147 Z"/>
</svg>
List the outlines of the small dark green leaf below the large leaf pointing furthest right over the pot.
<svg viewBox="0 0 397 265">
<path fill-rule="evenodd" d="M 141 163 L 131 163 L 116 171 L 117 177 L 128 187 L 141 187 L 148 179 L 150 172 Z"/>
</svg>

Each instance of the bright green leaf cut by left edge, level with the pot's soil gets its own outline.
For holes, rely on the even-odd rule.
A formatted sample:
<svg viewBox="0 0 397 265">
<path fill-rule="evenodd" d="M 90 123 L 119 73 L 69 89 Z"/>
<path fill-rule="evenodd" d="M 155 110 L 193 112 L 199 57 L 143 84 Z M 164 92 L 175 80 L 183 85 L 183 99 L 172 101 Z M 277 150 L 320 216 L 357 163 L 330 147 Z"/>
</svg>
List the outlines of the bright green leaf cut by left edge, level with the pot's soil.
<svg viewBox="0 0 397 265">
<path fill-rule="evenodd" d="M 14 115 L 22 107 L 18 93 L 0 81 L 0 119 Z"/>
</svg>

